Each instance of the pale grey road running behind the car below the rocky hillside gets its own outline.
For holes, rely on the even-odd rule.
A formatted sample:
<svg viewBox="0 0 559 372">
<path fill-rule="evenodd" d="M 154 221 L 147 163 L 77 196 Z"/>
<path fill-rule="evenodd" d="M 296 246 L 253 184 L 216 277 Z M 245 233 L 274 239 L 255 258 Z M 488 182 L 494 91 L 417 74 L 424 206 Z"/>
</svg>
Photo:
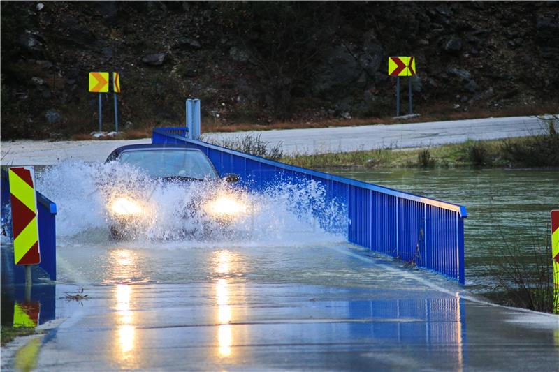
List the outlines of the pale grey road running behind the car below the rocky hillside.
<svg viewBox="0 0 559 372">
<path fill-rule="evenodd" d="M 433 121 L 415 124 L 351 126 L 336 128 L 288 129 L 209 133 L 206 138 L 261 135 L 270 144 L 282 144 L 284 154 L 357 151 L 385 147 L 423 147 L 464 142 L 467 139 L 493 140 L 535 135 L 545 130 L 537 117 L 500 117 L 488 119 Z M 124 144 L 150 143 L 151 140 L 106 141 L 30 141 L 1 142 L 2 165 L 52 165 L 73 158 L 104 161 L 113 149 Z"/>
</svg>

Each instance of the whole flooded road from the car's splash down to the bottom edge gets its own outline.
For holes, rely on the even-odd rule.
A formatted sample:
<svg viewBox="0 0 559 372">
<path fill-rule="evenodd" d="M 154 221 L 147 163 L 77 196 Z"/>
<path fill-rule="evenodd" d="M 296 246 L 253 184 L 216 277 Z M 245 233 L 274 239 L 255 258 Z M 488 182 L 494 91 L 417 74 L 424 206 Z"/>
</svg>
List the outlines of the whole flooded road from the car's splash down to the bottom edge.
<svg viewBox="0 0 559 372">
<path fill-rule="evenodd" d="M 43 336 L 36 369 L 553 371 L 559 365 L 555 315 L 472 299 L 440 276 L 353 246 L 187 246 L 59 248 L 66 284 L 53 291 L 58 325 Z M 82 287 L 87 299 L 66 299 Z M 2 352 L 3 369 L 22 355 L 6 359 Z"/>
</svg>

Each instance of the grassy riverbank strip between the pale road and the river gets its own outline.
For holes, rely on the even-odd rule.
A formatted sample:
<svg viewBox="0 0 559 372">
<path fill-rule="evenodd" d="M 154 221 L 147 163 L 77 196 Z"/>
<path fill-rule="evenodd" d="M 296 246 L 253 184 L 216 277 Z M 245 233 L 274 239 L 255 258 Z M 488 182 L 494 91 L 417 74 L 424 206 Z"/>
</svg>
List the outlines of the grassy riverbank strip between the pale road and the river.
<svg viewBox="0 0 559 372">
<path fill-rule="evenodd" d="M 503 140 L 467 140 L 460 144 L 415 149 L 283 156 L 282 162 L 303 168 L 550 168 L 559 167 L 559 135 Z"/>
</svg>

